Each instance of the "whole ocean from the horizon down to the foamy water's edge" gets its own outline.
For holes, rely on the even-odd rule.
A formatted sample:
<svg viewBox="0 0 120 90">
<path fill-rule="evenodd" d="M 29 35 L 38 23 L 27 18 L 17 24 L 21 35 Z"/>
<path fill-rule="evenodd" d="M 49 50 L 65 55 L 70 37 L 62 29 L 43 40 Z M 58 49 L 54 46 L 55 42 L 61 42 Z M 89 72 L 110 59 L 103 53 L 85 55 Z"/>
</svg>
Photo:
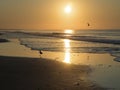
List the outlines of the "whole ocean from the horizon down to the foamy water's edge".
<svg viewBox="0 0 120 90">
<path fill-rule="evenodd" d="M 68 31 L 68 32 L 66 32 Z M 69 32 L 72 31 L 72 32 Z M 70 53 L 108 53 L 120 61 L 120 30 L 21 30 L 1 31 L 18 38 L 32 50 Z M 65 46 L 65 43 L 69 44 Z"/>
</svg>

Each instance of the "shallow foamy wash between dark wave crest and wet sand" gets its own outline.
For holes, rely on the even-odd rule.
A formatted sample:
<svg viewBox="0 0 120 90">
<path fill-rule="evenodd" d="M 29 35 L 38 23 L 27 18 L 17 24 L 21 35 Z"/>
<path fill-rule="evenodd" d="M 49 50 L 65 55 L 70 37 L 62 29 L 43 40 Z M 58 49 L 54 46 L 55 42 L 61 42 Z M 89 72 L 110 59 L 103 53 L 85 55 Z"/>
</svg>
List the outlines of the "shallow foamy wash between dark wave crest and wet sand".
<svg viewBox="0 0 120 90">
<path fill-rule="evenodd" d="M 114 55 L 114 53 L 120 53 L 120 47 L 114 47 L 114 46 L 80 46 L 79 43 L 78 46 L 77 44 L 71 45 L 70 47 L 65 47 L 63 42 L 46 42 L 44 40 L 39 41 L 39 40 L 27 40 L 27 39 L 21 39 L 20 40 L 22 45 L 25 45 L 32 50 L 44 50 L 44 51 L 56 51 L 56 52 L 65 52 L 66 50 L 69 50 L 71 53 L 110 53 L 111 55 Z M 74 42 L 73 42 L 74 43 Z"/>
</svg>

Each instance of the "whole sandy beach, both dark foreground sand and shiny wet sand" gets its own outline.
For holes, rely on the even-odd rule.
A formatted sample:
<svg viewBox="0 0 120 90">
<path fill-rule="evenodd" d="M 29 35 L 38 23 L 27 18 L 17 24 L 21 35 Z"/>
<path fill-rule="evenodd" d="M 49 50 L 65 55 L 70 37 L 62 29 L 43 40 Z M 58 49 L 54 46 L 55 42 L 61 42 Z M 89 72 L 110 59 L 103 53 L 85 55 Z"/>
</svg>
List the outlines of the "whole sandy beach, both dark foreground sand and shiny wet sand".
<svg viewBox="0 0 120 90">
<path fill-rule="evenodd" d="M 0 90 L 112 88 L 104 86 L 100 81 L 108 75 L 112 77 L 109 71 L 114 69 L 114 66 L 115 68 L 119 66 L 119 63 L 113 62 L 114 57 L 109 54 L 71 53 L 70 58 L 67 58 L 67 54 L 63 52 L 43 51 L 43 55 L 40 56 L 38 50 L 20 45 L 18 39 L 9 39 L 9 41 L 0 43 Z M 65 60 L 70 60 L 70 63 Z"/>
</svg>

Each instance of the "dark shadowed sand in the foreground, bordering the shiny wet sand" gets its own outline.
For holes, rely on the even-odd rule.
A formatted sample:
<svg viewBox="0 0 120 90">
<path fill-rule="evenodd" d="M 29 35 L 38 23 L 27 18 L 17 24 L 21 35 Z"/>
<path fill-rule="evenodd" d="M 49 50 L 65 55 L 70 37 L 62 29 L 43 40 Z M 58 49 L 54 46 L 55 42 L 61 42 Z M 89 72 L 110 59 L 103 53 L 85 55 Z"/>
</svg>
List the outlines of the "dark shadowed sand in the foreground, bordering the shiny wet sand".
<svg viewBox="0 0 120 90">
<path fill-rule="evenodd" d="M 86 79 L 90 71 L 44 58 L 0 56 L 0 90 L 104 90 Z"/>
</svg>

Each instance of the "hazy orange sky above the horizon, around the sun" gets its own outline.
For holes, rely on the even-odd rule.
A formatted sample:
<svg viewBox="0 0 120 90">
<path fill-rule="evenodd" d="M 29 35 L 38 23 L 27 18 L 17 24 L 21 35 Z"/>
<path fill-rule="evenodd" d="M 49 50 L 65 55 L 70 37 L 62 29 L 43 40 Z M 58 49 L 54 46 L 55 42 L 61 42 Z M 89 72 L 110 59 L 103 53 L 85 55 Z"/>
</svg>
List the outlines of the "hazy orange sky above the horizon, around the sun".
<svg viewBox="0 0 120 90">
<path fill-rule="evenodd" d="M 120 0 L 0 0 L 0 29 L 120 29 Z"/>
</svg>

